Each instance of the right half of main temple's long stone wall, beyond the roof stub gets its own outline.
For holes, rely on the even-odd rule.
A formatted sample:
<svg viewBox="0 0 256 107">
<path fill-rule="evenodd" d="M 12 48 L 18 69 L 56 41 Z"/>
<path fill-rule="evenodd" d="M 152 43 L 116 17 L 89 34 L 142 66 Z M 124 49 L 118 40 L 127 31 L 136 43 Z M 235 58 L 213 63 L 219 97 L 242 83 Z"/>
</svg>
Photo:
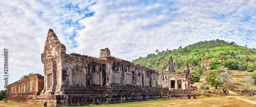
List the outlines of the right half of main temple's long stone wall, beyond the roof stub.
<svg viewBox="0 0 256 107">
<path fill-rule="evenodd" d="M 106 60 L 107 103 L 160 98 L 156 70 L 115 57 L 103 59 Z"/>
</svg>

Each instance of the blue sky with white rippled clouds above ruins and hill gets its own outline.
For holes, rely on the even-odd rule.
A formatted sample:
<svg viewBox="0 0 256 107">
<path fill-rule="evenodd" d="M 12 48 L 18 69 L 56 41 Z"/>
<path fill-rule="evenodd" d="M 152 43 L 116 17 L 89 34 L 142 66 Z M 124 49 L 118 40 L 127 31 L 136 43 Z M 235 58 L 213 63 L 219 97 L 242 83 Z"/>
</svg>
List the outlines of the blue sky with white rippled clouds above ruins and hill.
<svg viewBox="0 0 256 107">
<path fill-rule="evenodd" d="M 223 39 L 256 48 L 256 1 L 51 1 L 0 0 L 0 90 L 3 50 L 9 83 L 43 74 L 41 53 L 53 29 L 67 53 L 111 55 L 132 61 L 198 41 Z"/>
</svg>

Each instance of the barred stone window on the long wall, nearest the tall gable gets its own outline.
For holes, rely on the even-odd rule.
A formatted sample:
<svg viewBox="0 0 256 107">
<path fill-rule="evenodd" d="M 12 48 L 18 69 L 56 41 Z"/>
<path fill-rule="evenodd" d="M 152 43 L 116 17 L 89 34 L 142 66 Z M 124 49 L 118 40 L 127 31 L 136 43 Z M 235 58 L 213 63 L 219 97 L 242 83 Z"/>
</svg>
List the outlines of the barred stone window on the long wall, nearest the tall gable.
<svg viewBox="0 0 256 107">
<path fill-rule="evenodd" d="M 81 70 L 72 70 L 72 83 L 83 83 L 83 75 Z"/>
</svg>

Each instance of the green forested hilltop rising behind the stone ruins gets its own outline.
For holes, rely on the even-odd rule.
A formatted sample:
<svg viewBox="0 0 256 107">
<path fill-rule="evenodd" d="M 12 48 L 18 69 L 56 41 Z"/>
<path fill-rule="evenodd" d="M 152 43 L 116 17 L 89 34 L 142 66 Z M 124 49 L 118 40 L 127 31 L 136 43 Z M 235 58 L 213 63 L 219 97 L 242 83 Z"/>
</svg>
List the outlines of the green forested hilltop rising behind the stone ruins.
<svg viewBox="0 0 256 107">
<path fill-rule="evenodd" d="M 156 50 L 156 53 L 140 57 L 133 60 L 133 62 L 162 71 L 165 70 L 170 56 L 173 56 L 174 66 L 178 72 L 184 70 L 187 61 L 192 69 L 196 69 L 196 67 L 200 68 L 200 63 L 203 60 L 211 58 L 224 60 L 224 62 L 218 63 L 217 66 L 225 66 L 235 70 L 256 70 L 255 49 L 219 39 L 200 41 L 174 50 Z"/>
</svg>

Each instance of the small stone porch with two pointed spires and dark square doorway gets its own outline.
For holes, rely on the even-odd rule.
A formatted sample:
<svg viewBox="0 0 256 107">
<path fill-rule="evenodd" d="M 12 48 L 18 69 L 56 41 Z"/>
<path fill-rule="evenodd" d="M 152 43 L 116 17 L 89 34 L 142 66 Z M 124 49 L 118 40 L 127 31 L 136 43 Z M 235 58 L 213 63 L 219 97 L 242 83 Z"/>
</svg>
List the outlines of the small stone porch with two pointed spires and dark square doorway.
<svg viewBox="0 0 256 107">
<path fill-rule="evenodd" d="M 173 58 L 170 56 L 166 71 L 158 72 L 158 88 L 161 98 L 190 98 L 188 63 L 184 72 L 177 72 L 174 70 Z"/>
</svg>

